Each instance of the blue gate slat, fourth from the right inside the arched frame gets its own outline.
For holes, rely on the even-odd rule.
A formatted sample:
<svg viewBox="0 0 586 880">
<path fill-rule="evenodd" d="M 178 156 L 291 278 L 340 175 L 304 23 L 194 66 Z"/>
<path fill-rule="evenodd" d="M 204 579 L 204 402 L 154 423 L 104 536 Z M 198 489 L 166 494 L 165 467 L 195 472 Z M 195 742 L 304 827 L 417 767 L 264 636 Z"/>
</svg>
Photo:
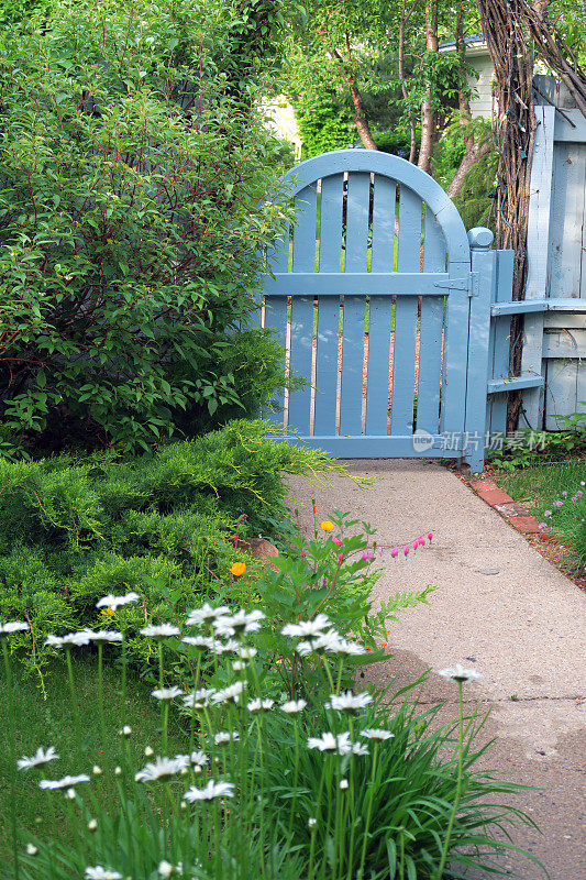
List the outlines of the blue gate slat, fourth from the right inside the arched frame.
<svg viewBox="0 0 586 880">
<path fill-rule="evenodd" d="M 368 251 L 368 201 L 371 175 L 349 174 L 345 238 L 345 272 L 366 272 Z M 342 329 L 342 384 L 340 433 L 362 435 L 362 385 L 364 364 L 364 296 L 344 296 Z"/>
</svg>

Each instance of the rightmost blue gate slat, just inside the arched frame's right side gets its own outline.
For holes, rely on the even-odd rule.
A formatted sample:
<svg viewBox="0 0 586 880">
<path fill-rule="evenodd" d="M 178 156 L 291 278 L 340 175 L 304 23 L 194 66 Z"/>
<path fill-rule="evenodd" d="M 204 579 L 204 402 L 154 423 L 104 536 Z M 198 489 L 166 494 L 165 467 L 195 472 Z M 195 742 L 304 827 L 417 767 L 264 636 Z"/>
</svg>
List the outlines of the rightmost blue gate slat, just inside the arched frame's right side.
<svg viewBox="0 0 586 880">
<path fill-rule="evenodd" d="M 445 242 L 440 224 L 425 207 L 423 234 L 423 272 L 443 272 Z M 442 334 L 444 299 L 421 298 L 419 331 L 419 383 L 417 388 L 417 428 L 436 433 L 440 425 L 440 387 L 442 381 Z"/>
</svg>

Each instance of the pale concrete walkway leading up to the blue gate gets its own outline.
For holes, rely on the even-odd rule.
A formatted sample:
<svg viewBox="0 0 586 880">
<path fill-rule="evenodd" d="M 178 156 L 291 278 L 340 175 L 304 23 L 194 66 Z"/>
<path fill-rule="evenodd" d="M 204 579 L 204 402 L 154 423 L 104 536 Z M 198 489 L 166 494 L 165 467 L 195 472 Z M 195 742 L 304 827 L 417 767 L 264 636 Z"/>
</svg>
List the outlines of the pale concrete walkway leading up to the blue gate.
<svg viewBox="0 0 586 880">
<path fill-rule="evenodd" d="M 420 460 L 360 461 L 351 471 L 378 482 L 368 491 L 335 477 L 320 490 L 290 479 L 292 506 L 306 522 L 314 497 L 318 521 L 349 510 L 377 529 L 380 544 L 434 535 L 407 562 L 391 560 L 389 550 L 380 560 L 379 598 L 429 583 L 439 590 L 429 606 L 391 625 L 392 657 L 372 675 L 378 684 L 407 682 L 456 662 L 482 672 L 466 694 L 494 704 L 486 738 L 496 744 L 486 765 L 540 788 L 513 803 L 543 834 L 521 828 L 516 843 L 541 859 L 552 880 L 585 880 L 584 594 L 450 471 Z M 431 675 L 421 698 L 453 697 L 453 685 Z M 523 880 L 543 877 L 526 859 L 507 857 L 504 865 Z"/>
</svg>

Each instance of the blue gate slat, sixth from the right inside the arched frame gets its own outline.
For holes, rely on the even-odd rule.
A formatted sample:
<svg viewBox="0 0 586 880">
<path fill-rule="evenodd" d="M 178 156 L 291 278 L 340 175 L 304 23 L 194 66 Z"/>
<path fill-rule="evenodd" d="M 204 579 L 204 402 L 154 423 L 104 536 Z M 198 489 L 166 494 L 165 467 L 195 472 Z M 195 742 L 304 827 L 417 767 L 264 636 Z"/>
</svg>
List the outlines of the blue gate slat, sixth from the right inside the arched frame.
<svg viewBox="0 0 586 880">
<path fill-rule="evenodd" d="M 299 208 L 294 228 L 292 272 L 316 271 L 317 182 L 298 194 Z M 290 369 L 311 380 L 313 356 L 313 297 L 291 299 Z M 289 395 L 288 425 L 309 433 L 311 385 Z"/>
</svg>

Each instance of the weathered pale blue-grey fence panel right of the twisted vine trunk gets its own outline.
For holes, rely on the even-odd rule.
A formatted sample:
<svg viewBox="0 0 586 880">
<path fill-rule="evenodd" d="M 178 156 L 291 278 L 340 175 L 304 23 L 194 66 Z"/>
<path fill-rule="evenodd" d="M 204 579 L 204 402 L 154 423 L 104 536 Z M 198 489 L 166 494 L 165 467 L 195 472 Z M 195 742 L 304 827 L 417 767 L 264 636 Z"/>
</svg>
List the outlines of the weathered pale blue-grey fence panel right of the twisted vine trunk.
<svg viewBox="0 0 586 880">
<path fill-rule="evenodd" d="M 539 78 L 539 88 L 559 106 L 568 103 L 548 78 Z M 522 372 L 541 383 L 523 391 L 523 420 L 556 430 L 561 417 L 586 411 L 586 120 L 579 110 L 548 103 L 535 116 L 519 311 L 526 312 Z"/>
</svg>

